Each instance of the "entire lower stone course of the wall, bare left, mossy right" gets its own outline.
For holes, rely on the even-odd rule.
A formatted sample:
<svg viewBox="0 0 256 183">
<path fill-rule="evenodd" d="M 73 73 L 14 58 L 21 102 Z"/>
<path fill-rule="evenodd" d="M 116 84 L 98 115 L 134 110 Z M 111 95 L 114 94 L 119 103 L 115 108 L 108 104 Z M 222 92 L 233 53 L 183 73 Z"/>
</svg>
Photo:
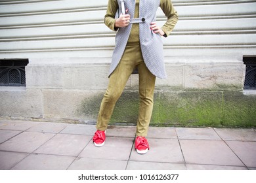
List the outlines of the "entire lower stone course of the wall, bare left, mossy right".
<svg viewBox="0 0 256 183">
<path fill-rule="evenodd" d="M 6 99 L 5 103 L 1 102 L 1 116 L 95 124 L 103 95 L 104 90 L 0 92 L 0 97 Z M 38 96 L 42 98 L 38 99 Z M 138 91 L 125 90 L 117 101 L 110 124 L 136 125 L 138 110 Z M 255 127 L 255 111 L 256 95 L 244 95 L 242 92 L 158 90 L 155 92 L 150 125 Z"/>
</svg>

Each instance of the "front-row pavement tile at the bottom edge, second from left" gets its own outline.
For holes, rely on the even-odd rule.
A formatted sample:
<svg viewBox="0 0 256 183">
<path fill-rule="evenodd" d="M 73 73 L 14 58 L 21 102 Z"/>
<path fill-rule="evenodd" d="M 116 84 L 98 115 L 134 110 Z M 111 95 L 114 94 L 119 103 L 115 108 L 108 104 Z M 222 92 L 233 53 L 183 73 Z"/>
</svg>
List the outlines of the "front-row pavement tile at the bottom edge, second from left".
<svg viewBox="0 0 256 183">
<path fill-rule="evenodd" d="M 66 170 L 74 161 L 72 156 L 56 156 L 49 154 L 30 154 L 16 166 L 13 170 Z"/>
</svg>

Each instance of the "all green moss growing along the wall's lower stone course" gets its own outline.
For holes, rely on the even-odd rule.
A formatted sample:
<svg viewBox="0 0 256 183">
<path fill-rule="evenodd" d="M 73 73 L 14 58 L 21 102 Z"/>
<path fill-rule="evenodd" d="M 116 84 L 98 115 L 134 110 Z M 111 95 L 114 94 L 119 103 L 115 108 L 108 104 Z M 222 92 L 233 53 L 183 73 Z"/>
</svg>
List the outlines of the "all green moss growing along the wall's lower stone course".
<svg viewBox="0 0 256 183">
<path fill-rule="evenodd" d="M 83 101 L 79 111 L 96 121 L 104 93 Z M 125 91 L 116 103 L 111 124 L 136 125 L 139 94 Z M 156 91 L 150 125 L 186 127 L 255 127 L 256 95 L 242 92 Z"/>
</svg>

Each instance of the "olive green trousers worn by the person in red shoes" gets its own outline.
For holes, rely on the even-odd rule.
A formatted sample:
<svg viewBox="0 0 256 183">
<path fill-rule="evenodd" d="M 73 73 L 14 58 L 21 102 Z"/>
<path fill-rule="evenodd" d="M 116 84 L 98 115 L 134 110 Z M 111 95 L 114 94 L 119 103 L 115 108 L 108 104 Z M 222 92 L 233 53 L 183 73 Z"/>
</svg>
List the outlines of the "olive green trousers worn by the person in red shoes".
<svg viewBox="0 0 256 183">
<path fill-rule="evenodd" d="M 133 73 L 135 67 L 139 71 L 140 97 L 136 135 L 146 137 L 153 110 L 156 76 L 152 75 L 146 67 L 142 58 L 140 45 L 126 46 L 123 57 L 114 72 L 110 75 L 108 89 L 104 94 L 98 112 L 96 129 L 106 130 L 116 102 L 121 96 L 121 93 L 123 93 L 127 80 L 131 76 L 131 73 Z"/>
</svg>

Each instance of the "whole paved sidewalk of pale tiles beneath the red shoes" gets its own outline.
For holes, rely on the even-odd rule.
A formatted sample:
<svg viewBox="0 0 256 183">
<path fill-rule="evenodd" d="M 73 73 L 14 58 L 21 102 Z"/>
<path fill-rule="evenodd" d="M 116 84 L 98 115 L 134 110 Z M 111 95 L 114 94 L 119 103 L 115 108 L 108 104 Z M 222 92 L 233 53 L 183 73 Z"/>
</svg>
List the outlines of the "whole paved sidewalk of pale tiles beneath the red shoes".
<svg viewBox="0 0 256 183">
<path fill-rule="evenodd" d="M 147 154 L 135 127 L 109 126 L 101 148 L 95 125 L 0 120 L 0 169 L 256 170 L 255 129 L 150 127 Z"/>
</svg>

